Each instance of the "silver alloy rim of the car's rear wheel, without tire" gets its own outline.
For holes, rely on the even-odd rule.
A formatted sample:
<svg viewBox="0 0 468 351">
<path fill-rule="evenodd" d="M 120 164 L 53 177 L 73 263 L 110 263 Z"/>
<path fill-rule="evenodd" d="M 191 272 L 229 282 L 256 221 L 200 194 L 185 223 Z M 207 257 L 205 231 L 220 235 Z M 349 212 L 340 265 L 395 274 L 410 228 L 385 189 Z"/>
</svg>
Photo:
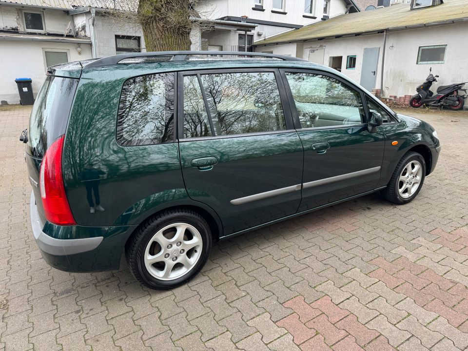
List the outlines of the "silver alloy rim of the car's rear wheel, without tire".
<svg viewBox="0 0 468 351">
<path fill-rule="evenodd" d="M 146 269 L 160 280 L 177 279 L 195 267 L 202 246 L 200 232 L 194 226 L 170 224 L 153 235 L 146 245 Z"/>
</svg>

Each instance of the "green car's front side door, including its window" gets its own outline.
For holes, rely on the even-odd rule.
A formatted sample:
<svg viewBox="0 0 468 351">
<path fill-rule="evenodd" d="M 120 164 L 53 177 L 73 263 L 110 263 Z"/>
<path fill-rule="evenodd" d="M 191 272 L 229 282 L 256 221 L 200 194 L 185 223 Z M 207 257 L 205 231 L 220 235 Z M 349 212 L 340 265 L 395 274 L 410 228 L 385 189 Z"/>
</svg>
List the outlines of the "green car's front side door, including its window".
<svg viewBox="0 0 468 351">
<path fill-rule="evenodd" d="M 304 146 L 299 211 L 375 189 L 385 137 L 380 128 L 369 133 L 362 94 L 319 71 L 286 70 L 282 75 Z"/>
</svg>

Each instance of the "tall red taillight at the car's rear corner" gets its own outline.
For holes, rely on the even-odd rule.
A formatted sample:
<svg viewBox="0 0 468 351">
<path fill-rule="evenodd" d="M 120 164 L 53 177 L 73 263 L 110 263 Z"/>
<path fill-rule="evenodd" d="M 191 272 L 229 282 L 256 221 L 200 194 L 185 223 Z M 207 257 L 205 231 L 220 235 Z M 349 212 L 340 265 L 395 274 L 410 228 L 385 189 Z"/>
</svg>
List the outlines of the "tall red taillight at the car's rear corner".
<svg viewBox="0 0 468 351">
<path fill-rule="evenodd" d="M 47 220 L 57 225 L 76 225 L 62 176 L 62 152 L 65 136 L 59 137 L 47 149 L 39 172 L 40 197 Z"/>
</svg>

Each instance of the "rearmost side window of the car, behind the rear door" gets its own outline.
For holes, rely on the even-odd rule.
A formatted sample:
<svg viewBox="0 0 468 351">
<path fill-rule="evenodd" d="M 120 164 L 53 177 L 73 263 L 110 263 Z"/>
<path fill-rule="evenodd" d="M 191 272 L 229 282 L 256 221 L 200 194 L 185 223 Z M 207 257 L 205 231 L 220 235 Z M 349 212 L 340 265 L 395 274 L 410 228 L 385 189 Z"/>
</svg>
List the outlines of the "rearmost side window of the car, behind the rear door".
<svg viewBox="0 0 468 351">
<path fill-rule="evenodd" d="M 117 142 L 122 146 L 174 142 L 174 73 L 125 81 L 118 106 Z"/>
</svg>

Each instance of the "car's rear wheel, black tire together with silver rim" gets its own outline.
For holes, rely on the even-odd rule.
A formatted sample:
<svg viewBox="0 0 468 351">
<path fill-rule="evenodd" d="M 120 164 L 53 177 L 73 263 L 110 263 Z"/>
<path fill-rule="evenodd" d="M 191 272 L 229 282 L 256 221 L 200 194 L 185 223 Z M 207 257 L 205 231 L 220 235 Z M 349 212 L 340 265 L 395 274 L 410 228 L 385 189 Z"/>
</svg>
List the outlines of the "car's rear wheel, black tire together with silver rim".
<svg viewBox="0 0 468 351">
<path fill-rule="evenodd" d="M 187 209 L 164 211 L 148 220 L 129 239 L 125 258 L 143 285 L 167 290 L 193 278 L 212 246 L 210 226 Z"/>
</svg>

